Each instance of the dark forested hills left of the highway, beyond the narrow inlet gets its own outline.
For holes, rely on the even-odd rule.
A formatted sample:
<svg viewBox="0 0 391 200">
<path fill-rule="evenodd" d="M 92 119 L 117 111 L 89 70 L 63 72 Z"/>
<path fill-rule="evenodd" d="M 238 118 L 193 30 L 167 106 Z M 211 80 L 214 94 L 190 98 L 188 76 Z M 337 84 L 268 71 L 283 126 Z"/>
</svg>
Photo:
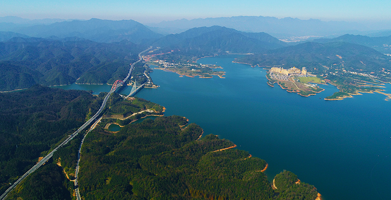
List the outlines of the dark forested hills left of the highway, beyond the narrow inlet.
<svg viewBox="0 0 391 200">
<path fill-rule="evenodd" d="M 0 91 L 34 84 L 112 83 L 124 78 L 144 46 L 127 40 L 12 38 L 0 42 Z"/>
</svg>

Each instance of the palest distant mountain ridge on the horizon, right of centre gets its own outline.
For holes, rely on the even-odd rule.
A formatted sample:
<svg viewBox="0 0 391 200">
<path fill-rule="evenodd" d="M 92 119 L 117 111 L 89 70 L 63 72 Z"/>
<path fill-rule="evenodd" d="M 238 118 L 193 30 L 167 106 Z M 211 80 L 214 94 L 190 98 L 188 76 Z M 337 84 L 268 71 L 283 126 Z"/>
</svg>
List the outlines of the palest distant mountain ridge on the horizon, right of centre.
<svg viewBox="0 0 391 200">
<path fill-rule="evenodd" d="M 345 21 L 322 21 L 316 19 L 300 20 L 297 18 L 263 17 L 263 16 L 237 16 L 222 18 L 205 18 L 194 20 L 173 20 L 160 23 L 147 23 L 160 31 L 178 33 L 194 27 L 225 26 L 245 32 L 265 32 L 275 37 L 308 36 L 308 35 L 335 35 L 346 34 L 348 31 L 363 31 L 368 29 L 363 24 Z"/>
</svg>

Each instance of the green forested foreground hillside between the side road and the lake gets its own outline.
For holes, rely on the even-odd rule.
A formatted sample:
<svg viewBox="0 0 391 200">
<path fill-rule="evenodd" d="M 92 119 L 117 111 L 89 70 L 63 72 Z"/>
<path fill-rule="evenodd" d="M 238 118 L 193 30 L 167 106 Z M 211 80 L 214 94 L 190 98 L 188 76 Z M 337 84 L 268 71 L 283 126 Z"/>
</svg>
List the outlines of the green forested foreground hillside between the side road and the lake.
<svg viewBox="0 0 391 200">
<path fill-rule="evenodd" d="M 231 141 L 214 135 L 197 140 L 201 127 L 181 127 L 186 123 L 170 116 L 129 124 L 115 134 L 102 128 L 90 132 L 82 149 L 81 195 L 86 200 L 274 199 L 261 172 L 265 160 L 230 149 Z M 302 186 L 281 192 L 292 200 L 315 200 L 316 189 Z"/>
</svg>

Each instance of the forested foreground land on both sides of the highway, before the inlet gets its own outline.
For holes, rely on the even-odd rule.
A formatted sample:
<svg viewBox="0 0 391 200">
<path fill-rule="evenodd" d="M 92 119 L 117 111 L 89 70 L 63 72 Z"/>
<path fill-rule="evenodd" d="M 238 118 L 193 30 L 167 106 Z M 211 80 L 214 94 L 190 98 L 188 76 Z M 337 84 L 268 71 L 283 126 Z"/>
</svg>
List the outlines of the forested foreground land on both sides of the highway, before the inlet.
<svg viewBox="0 0 391 200">
<path fill-rule="evenodd" d="M 23 100 L 21 96 L 24 97 Z M 2 120 L 12 113 L 14 119 L 31 121 L 27 124 L 30 129 L 20 123 L 2 126 L 3 133 L 5 129 L 10 133 L 8 137 L 24 139 L 16 145 L 10 143 L 9 138 L 5 137 L 6 134 L 1 135 L 0 140 L 9 144 L 1 146 L 3 151 L 9 152 L 8 156 L 1 158 L 1 191 L 7 188 L 8 182 L 13 182 L 43 156 L 50 146 L 69 133 L 57 133 L 56 138 L 53 138 L 55 135 L 52 133 L 57 129 L 44 132 L 45 137 L 50 136 L 49 140 L 45 140 L 44 148 L 37 149 L 32 146 L 37 146 L 38 141 L 32 139 L 36 138 L 38 130 L 41 130 L 39 124 L 52 124 L 53 128 L 58 128 L 59 124 L 65 121 L 75 120 L 69 124 L 69 128 L 62 128 L 71 130 L 75 127 L 71 124 L 76 124 L 77 127 L 76 121 L 80 120 L 79 123 L 82 123 L 87 120 L 90 113 L 99 107 L 102 96 L 103 93 L 92 96 L 84 91 L 65 91 L 38 85 L 19 93 L 0 94 L 2 101 L 8 100 L 9 103 L 15 104 L 14 108 L 20 108 L 2 114 Z M 52 98 L 53 100 L 50 100 Z M 42 104 L 43 101 L 47 101 L 46 104 Z M 55 114 L 58 111 L 53 109 L 54 105 L 60 113 Z M 31 110 L 29 112 L 32 114 L 23 114 L 23 107 Z M 119 95 L 112 94 L 103 115 L 126 117 L 145 110 L 154 111 L 147 112 L 150 114 L 162 114 L 164 108 L 147 100 L 122 100 Z M 57 115 L 57 120 L 48 121 L 49 115 Z M 138 118 L 141 117 L 143 116 Z M 281 189 L 273 190 L 263 173 L 267 166 L 265 160 L 233 148 L 236 146 L 233 142 L 218 139 L 215 135 L 201 138 L 202 128 L 194 123 L 188 124 L 184 117 L 159 117 L 134 124 L 126 121 L 126 118 L 115 119 L 115 122 L 122 121 L 120 123 L 124 125 L 115 133 L 104 128 L 107 123 L 112 122 L 109 120 L 99 122 L 83 144 L 79 189 L 86 200 L 283 200 L 287 196 L 294 200 L 314 200 L 317 197 L 318 193 L 313 186 L 285 184 L 286 181 L 280 181 L 278 176 L 277 187 L 281 185 Z M 25 130 L 31 130 L 31 127 L 38 128 L 37 134 L 23 133 Z M 7 199 L 75 199 L 71 180 L 74 179 L 77 151 L 82 137 L 83 134 L 78 135 L 59 149 L 53 159 L 22 181 Z M 26 150 L 28 146 L 35 151 Z M 18 167 L 12 167 L 13 164 Z M 19 171 L 15 171 L 16 169 Z"/>
</svg>

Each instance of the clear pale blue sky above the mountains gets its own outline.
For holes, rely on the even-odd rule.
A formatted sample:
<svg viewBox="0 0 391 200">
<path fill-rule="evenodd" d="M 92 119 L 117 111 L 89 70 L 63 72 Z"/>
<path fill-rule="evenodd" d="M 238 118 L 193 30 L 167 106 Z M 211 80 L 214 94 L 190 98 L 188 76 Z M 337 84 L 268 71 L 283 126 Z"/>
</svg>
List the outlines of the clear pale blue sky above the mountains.
<svg viewBox="0 0 391 200">
<path fill-rule="evenodd" d="M 0 17 L 26 19 L 163 20 L 264 16 L 391 20 L 391 0 L 0 0 Z"/>
</svg>

